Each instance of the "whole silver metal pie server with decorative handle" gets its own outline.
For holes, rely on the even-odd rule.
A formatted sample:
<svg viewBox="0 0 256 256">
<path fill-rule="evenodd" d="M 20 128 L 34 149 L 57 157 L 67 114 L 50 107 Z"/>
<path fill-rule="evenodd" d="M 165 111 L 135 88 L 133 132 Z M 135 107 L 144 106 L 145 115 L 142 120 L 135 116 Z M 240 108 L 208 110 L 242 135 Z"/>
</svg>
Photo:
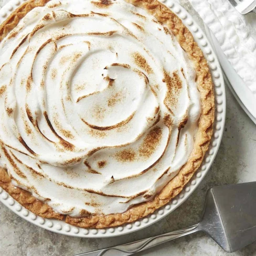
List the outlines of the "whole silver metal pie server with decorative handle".
<svg viewBox="0 0 256 256">
<path fill-rule="evenodd" d="M 227 252 L 237 251 L 254 242 L 256 240 L 256 182 L 210 188 L 206 195 L 204 215 L 194 226 L 78 255 L 131 255 L 198 231 L 207 233 Z"/>
</svg>

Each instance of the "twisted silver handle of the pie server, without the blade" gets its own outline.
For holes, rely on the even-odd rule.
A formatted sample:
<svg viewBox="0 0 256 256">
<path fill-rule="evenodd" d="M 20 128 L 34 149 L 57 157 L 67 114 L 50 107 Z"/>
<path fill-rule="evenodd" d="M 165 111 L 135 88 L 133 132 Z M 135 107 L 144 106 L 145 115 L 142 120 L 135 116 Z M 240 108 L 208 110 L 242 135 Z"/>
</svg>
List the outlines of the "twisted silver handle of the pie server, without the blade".
<svg viewBox="0 0 256 256">
<path fill-rule="evenodd" d="M 125 243 L 122 244 L 121 246 L 114 246 L 114 247 L 109 247 L 106 249 L 102 250 L 97 250 L 97 251 L 92 251 L 92 252 L 86 252 L 86 253 L 81 253 L 77 254 L 76 256 L 125 256 L 125 255 L 131 255 L 136 252 L 144 251 L 148 248 L 157 246 L 158 244 L 186 236 L 187 234 L 191 234 L 194 232 L 199 231 L 197 229 L 198 224 L 191 226 L 189 228 L 184 228 L 180 230 L 176 230 L 173 232 L 168 232 L 165 234 L 160 234 L 159 236 L 155 237 L 150 237 L 146 239 L 142 239 L 139 241 L 131 242 L 131 243 Z"/>
</svg>

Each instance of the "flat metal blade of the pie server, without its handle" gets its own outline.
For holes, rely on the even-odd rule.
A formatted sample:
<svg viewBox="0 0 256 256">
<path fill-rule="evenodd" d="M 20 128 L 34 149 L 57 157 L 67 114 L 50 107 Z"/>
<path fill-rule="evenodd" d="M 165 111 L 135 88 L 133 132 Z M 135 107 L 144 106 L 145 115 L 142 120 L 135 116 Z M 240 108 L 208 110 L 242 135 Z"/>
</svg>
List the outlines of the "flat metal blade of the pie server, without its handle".
<svg viewBox="0 0 256 256">
<path fill-rule="evenodd" d="M 254 242 L 256 182 L 211 188 L 199 226 L 227 252 Z"/>
</svg>

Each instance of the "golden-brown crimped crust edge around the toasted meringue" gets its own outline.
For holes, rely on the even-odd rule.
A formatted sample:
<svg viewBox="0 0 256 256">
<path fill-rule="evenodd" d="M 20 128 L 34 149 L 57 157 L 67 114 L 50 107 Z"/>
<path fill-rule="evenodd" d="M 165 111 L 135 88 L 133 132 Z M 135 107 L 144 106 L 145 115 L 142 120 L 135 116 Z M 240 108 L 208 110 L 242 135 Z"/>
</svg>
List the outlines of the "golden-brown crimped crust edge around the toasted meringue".
<svg viewBox="0 0 256 256">
<path fill-rule="evenodd" d="M 104 4 L 104 0 L 100 0 Z M 154 199 L 132 206 L 122 214 L 99 215 L 93 214 L 81 218 L 65 216 L 54 211 L 44 202 L 36 199 L 28 191 L 17 188 L 11 183 L 7 170 L 0 168 L 0 186 L 9 193 L 22 206 L 34 212 L 34 214 L 43 218 L 65 219 L 70 225 L 81 228 L 106 228 L 123 225 L 132 222 L 149 214 L 156 209 L 167 204 L 172 198 L 177 196 L 184 186 L 189 182 L 193 174 L 200 166 L 212 135 L 215 103 L 214 88 L 211 80 L 211 74 L 207 61 L 202 51 L 195 42 L 189 30 L 170 9 L 159 3 L 157 0 L 125 0 L 134 6 L 146 9 L 147 12 L 155 16 L 158 22 L 161 22 L 172 30 L 177 37 L 180 46 L 186 51 L 189 59 L 193 61 L 196 71 L 197 87 L 201 96 L 201 116 L 198 122 L 198 132 L 196 135 L 194 149 L 191 152 L 187 163 L 180 169 L 179 173 L 157 194 Z M 31 9 L 44 6 L 49 0 L 29 0 L 17 8 L 0 25 L 0 41 L 17 26 Z"/>
</svg>

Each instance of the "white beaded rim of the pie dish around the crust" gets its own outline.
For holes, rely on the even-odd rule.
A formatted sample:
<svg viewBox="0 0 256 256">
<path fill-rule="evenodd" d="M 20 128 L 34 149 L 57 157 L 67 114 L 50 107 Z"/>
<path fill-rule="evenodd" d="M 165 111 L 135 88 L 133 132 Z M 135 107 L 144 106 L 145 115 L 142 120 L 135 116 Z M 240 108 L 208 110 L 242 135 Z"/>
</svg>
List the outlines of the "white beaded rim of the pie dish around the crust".
<svg viewBox="0 0 256 256">
<path fill-rule="evenodd" d="M 120 236 L 122 234 L 131 233 L 136 230 L 150 226 L 156 221 L 164 218 L 166 215 L 168 215 L 170 212 L 180 206 L 193 193 L 201 180 L 205 177 L 211 164 L 214 162 L 214 158 L 220 145 L 225 124 L 226 97 L 221 68 L 207 37 L 202 32 L 201 28 L 193 20 L 193 18 L 186 12 L 186 10 L 173 0 L 164 0 L 162 2 L 166 6 L 168 6 L 175 14 L 177 14 L 179 18 L 183 20 L 183 23 L 193 34 L 196 42 L 198 43 L 199 47 L 204 52 L 206 59 L 208 60 L 209 67 L 212 73 L 212 79 L 215 84 L 216 121 L 214 125 L 214 134 L 210 142 L 209 150 L 205 155 L 205 159 L 202 162 L 200 168 L 197 170 L 194 177 L 190 180 L 182 193 L 180 193 L 176 198 L 174 198 L 164 207 L 156 210 L 154 214 L 151 214 L 133 223 L 122 225 L 120 227 L 105 229 L 83 229 L 68 225 L 65 223 L 65 221 L 44 219 L 36 216 L 32 212 L 22 207 L 17 201 L 10 197 L 6 193 L 6 191 L 4 191 L 0 187 L 0 201 L 3 202 L 3 204 L 6 205 L 9 209 L 14 211 L 17 215 L 31 223 L 34 223 L 39 227 L 69 236 L 86 238 Z M 8 17 L 11 12 L 13 12 L 15 8 L 17 8 L 22 3 L 23 1 L 20 0 L 10 0 L 2 9 L 0 9 L 0 24 L 6 19 L 6 17 Z"/>
</svg>

